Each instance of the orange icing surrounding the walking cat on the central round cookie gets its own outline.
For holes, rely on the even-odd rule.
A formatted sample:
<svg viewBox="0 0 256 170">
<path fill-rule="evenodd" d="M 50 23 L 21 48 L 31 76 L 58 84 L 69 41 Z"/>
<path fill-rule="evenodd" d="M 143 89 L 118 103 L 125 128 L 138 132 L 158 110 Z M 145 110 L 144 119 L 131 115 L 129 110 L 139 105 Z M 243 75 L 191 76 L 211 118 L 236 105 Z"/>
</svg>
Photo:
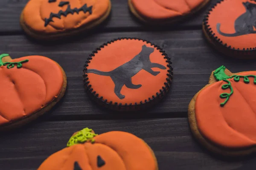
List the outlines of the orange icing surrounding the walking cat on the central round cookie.
<svg viewBox="0 0 256 170">
<path fill-rule="evenodd" d="M 111 44 L 108 44 L 95 54 L 92 60 L 90 60 L 89 69 L 96 69 L 100 71 L 112 71 L 120 65 L 133 59 L 142 50 L 142 46 L 154 48 L 142 40 L 117 40 Z M 113 101 L 125 104 L 135 103 L 148 100 L 149 97 L 156 96 L 156 93 L 162 89 L 164 82 L 168 74 L 168 67 L 166 59 L 163 58 L 162 53 L 154 48 L 154 52 L 150 54 L 150 61 L 158 63 L 166 67 L 166 69 L 152 68 L 153 71 L 160 71 L 157 76 L 148 73 L 145 70 L 139 71 L 136 75 L 131 77 L 131 81 L 134 85 L 142 85 L 140 88 L 131 89 L 125 85 L 122 87 L 121 94 L 125 95 L 124 99 L 119 99 L 114 93 L 115 84 L 111 77 L 101 76 L 98 74 L 88 73 L 90 85 L 92 85 L 93 91 L 96 91 L 99 96 L 103 96 L 103 100 L 107 99 L 108 102 Z M 102 88 L 104 85 L 104 88 Z"/>
</svg>

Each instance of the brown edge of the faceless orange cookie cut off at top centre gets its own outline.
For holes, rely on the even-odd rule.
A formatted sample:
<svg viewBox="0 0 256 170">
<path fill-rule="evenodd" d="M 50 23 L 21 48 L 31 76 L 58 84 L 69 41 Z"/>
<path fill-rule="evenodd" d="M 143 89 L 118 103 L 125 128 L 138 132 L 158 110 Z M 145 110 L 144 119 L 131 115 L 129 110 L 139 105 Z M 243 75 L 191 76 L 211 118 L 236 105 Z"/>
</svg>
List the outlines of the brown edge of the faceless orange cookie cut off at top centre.
<svg viewBox="0 0 256 170">
<path fill-rule="evenodd" d="M 175 23 L 175 22 L 180 21 L 180 20 L 185 20 L 189 16 L 191 16 L 191 15 L 195 14 L 196 12 L 200 11 L 208 3 L 209 3 L 209 0 L 205 0 L 204 3 L 202 3 L 200 6 L 198 6 L 197 8 L 194 8 L 188 14 L 185 14 L 183 16 L 173 17 L 173 18 L 169 18 L 169 19 L 165 19 L 165 20 L 152 20 L 150 18 L 143 17 L 143 15 L 141 15 L 134 8 L 134 6 L 131 3 L 131 0 L 128 0 L 128 6 L 130 8 L 131 13 L 134 14 L 134 16 L 137 17 L 139 20 L 143 21 L 144 23 L 150 24 L 150 25 L 156 25 L 156 24 L 163 24 L 163 25 L 165 25 L 165 24 L 172 24 L 172 23 Z"/>
</svg>

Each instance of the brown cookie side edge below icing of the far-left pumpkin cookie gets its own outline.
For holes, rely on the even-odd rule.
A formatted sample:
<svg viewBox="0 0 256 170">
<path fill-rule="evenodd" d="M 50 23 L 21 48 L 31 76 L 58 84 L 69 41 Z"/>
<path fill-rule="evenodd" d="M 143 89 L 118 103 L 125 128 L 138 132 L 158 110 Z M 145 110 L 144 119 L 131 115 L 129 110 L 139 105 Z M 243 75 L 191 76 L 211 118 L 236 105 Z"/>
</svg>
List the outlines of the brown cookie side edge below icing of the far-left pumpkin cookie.
<svg viewBox="0 0 256 170">
<path fill-rule="evenodd" d="M 58 63 L 56 62 L 56 64 L 58 64 Z M 61 66 L 59 64 L 58 64 L 58 66 L 61 68 Z M 65 91 L 67 89 L 67 77 L 66 77 L 66 74 L 65 74 L 63 68 L 61 68 L 61 71 L 62 71 L 62 74 L 63 74 L 63 80 L 64 81 L 63 81 L 62 89 L 61 89 L 57 98 L 55 98 L 52 102 L 50 102 L 44 108 L 41 108 L 39 111 L 37 111 L 37 112 L 35 112 L 35 113 L 33 113 L 29 116 L 26 116 L 23 119 L 20 119 L 20 120 L 14 121 L 14 122 L 9 122 L 6 125 L 0 126 L 0 131 L 8 131 L 8 130 L 13 130 L 17 127 L 21 127 L 21 126 L 37 119 L 39 116 L 42 116 L 44 113 L 47 113 L 48 111 L 50 111 L 51 108 L 54 107 L 61 100 L 61 98 L 64 96 Z"/>
</svg>

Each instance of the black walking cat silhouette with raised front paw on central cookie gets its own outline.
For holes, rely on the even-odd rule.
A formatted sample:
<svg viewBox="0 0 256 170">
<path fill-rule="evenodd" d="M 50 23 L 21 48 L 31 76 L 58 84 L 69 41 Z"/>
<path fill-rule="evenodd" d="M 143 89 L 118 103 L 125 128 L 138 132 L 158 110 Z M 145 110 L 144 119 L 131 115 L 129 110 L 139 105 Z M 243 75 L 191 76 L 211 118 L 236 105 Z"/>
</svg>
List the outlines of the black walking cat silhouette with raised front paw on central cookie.
<svg viewBox="0 0 256 170">
<path fill-rule="evenodd" d="M 137 89 L 140 88 L 141 85 L 134 85 L 131 82 L 131 77 L 137 74 L 142 69 L 147 71 L 148 73 L 156 76 L 160 73 L 160 71 L 153 71 L 151 68 L 160 68 L 166 69 L 165 66 L 152 63 L 149 59 L 151 53 L 154 52 L 154 48 L 147 47 L 146 45 L 142 46 L 142 50 L 139 54 L 137 54 L 133 59 L 126 62 L 123 65 L 120 65 L 118 68 L 109 71 L 103 72 L 95 69 L 87 70 L 87 73 L 94 73 L 102 76 L 110 76 L 115 84 L 114 92 L 119 99 L 124 99 L 125 96 L 122 95 L 121 89 L 125 85 L 127 88 Z"/>
</svg>

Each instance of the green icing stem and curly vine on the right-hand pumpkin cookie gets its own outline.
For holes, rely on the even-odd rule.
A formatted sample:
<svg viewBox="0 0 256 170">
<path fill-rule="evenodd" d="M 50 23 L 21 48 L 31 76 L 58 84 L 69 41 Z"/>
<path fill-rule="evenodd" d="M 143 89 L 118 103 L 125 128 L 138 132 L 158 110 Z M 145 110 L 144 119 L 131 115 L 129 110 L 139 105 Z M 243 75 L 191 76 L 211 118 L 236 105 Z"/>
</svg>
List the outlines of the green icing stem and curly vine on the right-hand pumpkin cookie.
<svg viewBox="0 0 256 170">
<path fill-rule="evenodd" d="M 227 84 L 222 85 L 221 88 L 223 90 L 228 89 L 228 88 L 230 89 L 230 93 L 222 93 L 220 95 L 221 99 L 226 99 L 223 103 L 220 104 L 221 107 L 223 107 L 228 102 L 228 100 L 230 99 L 230 96 L 234 92 L 233 87 L 232 87 L 232 85 L 231 85 L 231 83 L 228 79 L 233 78 L 235 82 L 239 82 L 240 78 L 243 78 L 244 83 L 248 84 L 248 83 L 250 83 L 250 79 L 248 77 L 253 77 L 254 78 L 253 83 L 256 85 L 256 75 L 247 75 L 247 76 L 233 75 L 233 76 L 228 76 L 224 72 L 225 69 L 226 68 L 222 65 L 221 67 L 219 67 L 215 71 L 213 71 L 213 75 L 214 75 L 214 77 L 217 81 L 223 80 L 224 82 L 227 82 Z"/>
</svg>

